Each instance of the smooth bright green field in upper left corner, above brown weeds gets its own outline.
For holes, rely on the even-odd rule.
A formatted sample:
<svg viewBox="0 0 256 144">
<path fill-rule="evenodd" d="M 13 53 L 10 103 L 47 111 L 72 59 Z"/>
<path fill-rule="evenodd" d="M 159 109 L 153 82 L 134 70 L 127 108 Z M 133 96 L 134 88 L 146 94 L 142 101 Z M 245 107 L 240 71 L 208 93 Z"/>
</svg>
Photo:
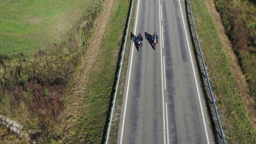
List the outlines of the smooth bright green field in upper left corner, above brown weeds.
<svg viewBox="0 0 256 144">
<path fill-rule="evenodd" d="M 0 0 L 0 53 L 30 54 L 60 42 L 93 0 Z"/>
</svg>

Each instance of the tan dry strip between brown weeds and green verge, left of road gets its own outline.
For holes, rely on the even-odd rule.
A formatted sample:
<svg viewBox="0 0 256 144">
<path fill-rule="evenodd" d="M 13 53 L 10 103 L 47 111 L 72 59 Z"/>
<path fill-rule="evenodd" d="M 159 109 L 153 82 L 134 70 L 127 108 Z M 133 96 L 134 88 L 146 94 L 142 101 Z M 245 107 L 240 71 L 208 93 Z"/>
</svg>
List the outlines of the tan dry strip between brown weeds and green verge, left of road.
<svg viewBox="0 0 256 144">
<path fill-rule="evenodd" d="M 62 143 L 70 143 L 72 142 L 72 139 L 78 138 L 78 136 L 74 136 L 77 131 L 74 129 L 74 126 L 76 126 L 80 117 L 82 116 L 86 88 L 90 80 L 90 73 L 98 57 L 100 45 L 102 43 L 102 39 L 108 25 L 110 12 L 114 4 L 113 2 L 114 0 L 104 1 L 104 10 L 95 22 L 96 30 L 94 36 L 92 36 L 93 47 L 90 46 L 88 49 L 86 58 L 82 64 L 82 68 L 74 82 L 74 87 L 68 96 L 69 100 L 66 112 L 66 124 L 64 127 Z"/>
</svg>

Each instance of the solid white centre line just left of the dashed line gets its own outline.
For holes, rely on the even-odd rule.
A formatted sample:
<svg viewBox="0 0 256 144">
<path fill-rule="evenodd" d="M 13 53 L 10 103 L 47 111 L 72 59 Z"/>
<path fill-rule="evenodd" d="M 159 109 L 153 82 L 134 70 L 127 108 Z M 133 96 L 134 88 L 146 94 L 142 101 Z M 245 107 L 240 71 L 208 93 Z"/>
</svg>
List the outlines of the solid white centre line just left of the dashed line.
<svg viewBox="0 0 256 144">
<path fill-rule="evenodd" d="M 166 144 L 166 134 L 165 134 L 165 116 L 164 116 L 164 82 L 163 82 L 163 60 L 162 60 L 162 34 L 161 34 L 161 12 L 160 12 L 160 0 L 159 2 L 159 23 L 160 23 L 160 54 L 161 54 L 161 75 L 162 75 L 162 100 L 163 100 L 163 123 L 164 123 L 164 144 Z M 159 40 L 158 40 L 159 42 Z"/>
</svg>

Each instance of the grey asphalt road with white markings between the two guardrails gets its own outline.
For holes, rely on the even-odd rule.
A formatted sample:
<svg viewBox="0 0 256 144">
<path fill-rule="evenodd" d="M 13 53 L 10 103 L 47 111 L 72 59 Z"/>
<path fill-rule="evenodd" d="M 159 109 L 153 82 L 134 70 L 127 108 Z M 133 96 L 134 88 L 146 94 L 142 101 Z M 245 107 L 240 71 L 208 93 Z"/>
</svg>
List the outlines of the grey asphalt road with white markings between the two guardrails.
<svg viewBox="0 0 256 144">
<path fill-rule="evenodd" d="M 213 144 L 181 0 L 138 0 L 118 131 L 122 144 Z M 183 14 L 183 17 L 182 17 Z M 184 22 L 183 22 L 184 20 Z M 185 30 L 186 28 L 186 30 Z M 152 34 L 158 34 L 155 50 Z"/>
</svg>

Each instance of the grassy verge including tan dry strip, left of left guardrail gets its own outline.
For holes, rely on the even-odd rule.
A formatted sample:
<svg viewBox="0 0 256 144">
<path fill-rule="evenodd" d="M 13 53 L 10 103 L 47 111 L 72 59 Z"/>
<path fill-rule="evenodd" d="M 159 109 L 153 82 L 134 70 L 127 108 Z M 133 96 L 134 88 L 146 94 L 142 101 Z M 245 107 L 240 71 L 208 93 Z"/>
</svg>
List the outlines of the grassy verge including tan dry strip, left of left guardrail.
<svg viewBox="0 0 256 144">
<path fill-rule="evenodd" d="M 86 90 L 84 95 L 81 95 L 84 100 L 82 100 L 80 115 L 76 116 L 78 117 L 76 124 L 67 129 L 63 142 L 67 140 L 71 143 L 104 143 L 110 114 L 109 106 L 114 96 L 120 52 L 124 43 L 129 5 L 130 0 L 105 0 L 101 17 L 108 17 L 109 14 L 110 17 L 107 20 L 106 29 L 100 31 L 103 35 L 96 30 L 95 38 L 98 40 L 103 37 L 102 42 L 99 45 L 92 43 L 88 50 L 88 52 L 94 53 L 95 49 L 98 49 L 98 54 L 93 56 L 95 59 L 91 71 L 86 74 L 88 85 L 82 86 L 83 89 L 80 89 L 81 93 Z M 110 11 L 105 13 L 106 9 Z M 100 23 L 102 22 L 105 23 L 104 20 L 100 21 Z M 88 56 L 88 58 L 90 57 L 92 56 Z M 74 102 L 74 100 L 71 101 Z M 70 111 L 72 110 L 70 109 Z"/>
</svg>

